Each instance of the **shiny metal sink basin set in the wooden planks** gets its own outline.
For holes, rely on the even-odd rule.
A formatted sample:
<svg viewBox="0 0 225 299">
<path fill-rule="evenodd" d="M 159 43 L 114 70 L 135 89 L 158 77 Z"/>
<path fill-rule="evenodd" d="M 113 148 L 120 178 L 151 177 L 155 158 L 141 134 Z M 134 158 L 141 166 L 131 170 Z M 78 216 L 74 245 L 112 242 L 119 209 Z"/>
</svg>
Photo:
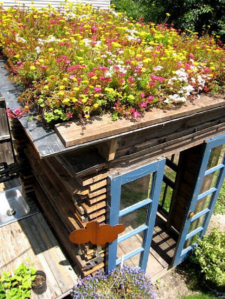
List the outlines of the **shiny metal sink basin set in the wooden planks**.
<svg viewBox="0 0 225 299">
<path fill-rule="evenodd" d="M 0 192 L 0 227 L 38 212 L 34 204 L 27 205 L 21 186 Z"/>
</svg>

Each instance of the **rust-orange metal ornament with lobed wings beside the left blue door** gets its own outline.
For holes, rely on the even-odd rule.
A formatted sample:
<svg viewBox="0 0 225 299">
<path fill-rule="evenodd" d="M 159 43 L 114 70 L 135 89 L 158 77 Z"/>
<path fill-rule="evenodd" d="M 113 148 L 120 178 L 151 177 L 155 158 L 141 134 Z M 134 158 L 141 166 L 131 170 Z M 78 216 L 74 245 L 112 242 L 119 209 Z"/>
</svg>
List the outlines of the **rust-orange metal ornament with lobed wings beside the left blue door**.
<svg viewBox="0 0 225 299">
<path fill-rule="evenodd" d="M 117 239 L 117 235 L 125 230 L 123 224 L 110 226 L 109 224 L 99 225 L 96 221 L 87 223 L 85 229 L 73 231 L 69 235 L 69 241 L 75 244 L 92 243 L 104 245 Z"/>
</svg>

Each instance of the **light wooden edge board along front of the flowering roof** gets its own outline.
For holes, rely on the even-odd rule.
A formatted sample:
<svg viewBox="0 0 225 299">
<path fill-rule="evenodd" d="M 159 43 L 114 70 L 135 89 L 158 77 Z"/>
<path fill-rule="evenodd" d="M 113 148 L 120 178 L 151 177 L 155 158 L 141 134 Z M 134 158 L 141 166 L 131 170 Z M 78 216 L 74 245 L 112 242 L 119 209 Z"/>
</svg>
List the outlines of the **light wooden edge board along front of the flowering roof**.
<svg viewBox="0 0 225 299">
<path fill-rule="evenodd" d="M 138 119 L 118 119 L 113 121 L 110 115 L 102 117 L 94 116 L 83 124 L 80 121 L 68 121 L 56 124 L 54 130 L 65 147 L 70 147 L 85 142 L 90 142 L 105 137 L 115 138 L 121 133 L 129 133 L 134 130 L 142 130 L 151 125 L 158 125 L 162 122 L 174 121 L 181 117 L 190 117 L 196 113 L 202 113 L 225 104 L 225 98 L 203 95 L 193 102 L 186 102 L 173 110 L 162 110 L 153 108 Z"/>
</svg>

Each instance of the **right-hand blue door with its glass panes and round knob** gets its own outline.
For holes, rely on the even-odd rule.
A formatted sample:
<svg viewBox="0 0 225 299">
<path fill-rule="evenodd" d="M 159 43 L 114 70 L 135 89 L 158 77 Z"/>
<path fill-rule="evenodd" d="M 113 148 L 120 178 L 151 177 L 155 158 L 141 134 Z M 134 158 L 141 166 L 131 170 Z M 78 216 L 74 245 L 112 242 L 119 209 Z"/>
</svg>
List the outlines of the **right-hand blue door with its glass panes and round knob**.
<svg viewBox="0 0 225 299">
<path fill-rule="evenodd" d="M 172 267 L 181 263 L 192 251 L 192 248 L 196 245 L 194 238 L 196 236 L 201 238 L 205 234 L 225 177 L 225 156 L 223 155 L 221 161 L 213 167 L 210 167 L 210 159 L 213 151 L 217 147 L 224 146 L 224 144 L 225 133 L 207 139 L 204 142 L 202 162 L 199 167 L 186 218 L 179 234 Z M 211 184 L 212 177 L 216 179 L 213 184 Z M 205 182 L 207 183 L 207 178 L 209 179 L 209 184 L 205 184 Z M 194 216 L 190 213 L 193 213 Z"/>
</svg>

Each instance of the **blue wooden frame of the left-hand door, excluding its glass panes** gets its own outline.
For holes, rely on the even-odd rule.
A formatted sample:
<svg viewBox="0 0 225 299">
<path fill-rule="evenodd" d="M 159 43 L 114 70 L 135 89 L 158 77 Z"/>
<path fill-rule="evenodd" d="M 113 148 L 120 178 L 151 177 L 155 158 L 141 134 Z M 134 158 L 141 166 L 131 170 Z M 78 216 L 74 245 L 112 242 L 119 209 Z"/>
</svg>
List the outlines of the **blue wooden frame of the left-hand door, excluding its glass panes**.
<svg viewBox="0 0 225 299">
<path fill-rule="evenodd" d="M 144 225 L 139 226 L 135 230 L 118 237 L 117 240 L 110 243 L 108 245 L 108 257 L 106 261 L 107 270 L 111 271 L 114 269 L 118 264 L 120 264 L 121 259 L 116 259 L 117 254 L 117 244 L 140 233 L 144 232 L 144 237 L 142 241 L 142 246 L 128 254 L 126 254 L 123 258 L 124 261 L 139 254 L 139 267 L 146 270 L 147 266 L 147 259 L 150 250 L 150 244 L 155 224 L 158 200 L 161 190 L 163 172 L 164 172 L 164 165 L 165 165 L 165 158 L 159 159 L 151 164 L 144 165 L 137 169 L 131 170 L 127 173 L 117 175 L 117 176 L 109 176 L 109 183 L 110 183 L 110 205 L 109 208 L 109 224 L 116 225 L 119 223 L 119 217 L 124 216 L 128 213 L 135 211 L 144 206 L 148 206 L 148 211 L 146 215 L 146 222 Z M 148 174 L 153 174 L 152 178 L 152 185 L 149 198 L 142 200 L 130 207 L 127 207 L 123 210 L 120 209 L 120 193 L 121 193 L 121 186 L 132 182 L 136 179 L 144 177 Z"/>
</svg>

